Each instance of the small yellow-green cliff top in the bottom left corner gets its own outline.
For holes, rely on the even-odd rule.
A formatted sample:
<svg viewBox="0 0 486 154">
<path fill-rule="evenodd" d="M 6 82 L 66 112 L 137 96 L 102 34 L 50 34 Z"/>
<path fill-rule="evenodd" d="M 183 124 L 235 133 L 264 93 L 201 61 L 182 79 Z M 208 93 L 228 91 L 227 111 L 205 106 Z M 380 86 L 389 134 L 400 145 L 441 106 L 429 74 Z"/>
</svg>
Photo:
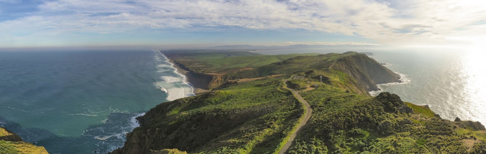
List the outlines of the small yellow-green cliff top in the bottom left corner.
<svg viewBox="0 0 486 154">
<path fill-rule="evenodd" d="M 44 147 L 23 142 L 13 132 L 0 127 L 0 153 L 1 154 L 49 154 Z"/>
</svg>

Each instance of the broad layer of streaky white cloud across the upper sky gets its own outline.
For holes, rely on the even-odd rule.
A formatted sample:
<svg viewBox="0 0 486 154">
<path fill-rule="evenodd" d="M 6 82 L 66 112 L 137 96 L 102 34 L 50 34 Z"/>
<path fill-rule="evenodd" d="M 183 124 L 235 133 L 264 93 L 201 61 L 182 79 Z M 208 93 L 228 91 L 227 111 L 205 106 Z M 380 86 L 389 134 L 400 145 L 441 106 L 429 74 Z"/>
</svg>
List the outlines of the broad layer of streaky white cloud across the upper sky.
<svg viewBox="0 0 486 154">
<path fill-rule="evenodd" d="M 485 24 L 471 25 L 484 21 L 485 6 L 479 0 L 56 0 L 0 21 L 0 29 L 62 35 L 240 27 L 337 33 L 382 44 L 448 43 L 449 35 L 485 34 Z"/>
</svg>

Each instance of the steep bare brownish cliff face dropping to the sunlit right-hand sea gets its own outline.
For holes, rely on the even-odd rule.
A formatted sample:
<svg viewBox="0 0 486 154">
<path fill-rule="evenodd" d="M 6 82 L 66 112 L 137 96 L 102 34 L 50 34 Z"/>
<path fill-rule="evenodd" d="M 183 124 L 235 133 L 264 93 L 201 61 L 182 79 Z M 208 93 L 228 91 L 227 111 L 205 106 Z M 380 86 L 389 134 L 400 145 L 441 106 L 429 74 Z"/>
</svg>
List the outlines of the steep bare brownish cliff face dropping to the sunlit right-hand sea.
<svg viewBox="0 0 486 154">
<path fill-rule="evenodd" d="M 401 82 L 398 74 L 364 54 L 355 54 L 336 60 L 330 69 L 346 73 L 358 83 L 358 86 L 367 91 L 380 90 L 377 84 Z"/>
</svg>

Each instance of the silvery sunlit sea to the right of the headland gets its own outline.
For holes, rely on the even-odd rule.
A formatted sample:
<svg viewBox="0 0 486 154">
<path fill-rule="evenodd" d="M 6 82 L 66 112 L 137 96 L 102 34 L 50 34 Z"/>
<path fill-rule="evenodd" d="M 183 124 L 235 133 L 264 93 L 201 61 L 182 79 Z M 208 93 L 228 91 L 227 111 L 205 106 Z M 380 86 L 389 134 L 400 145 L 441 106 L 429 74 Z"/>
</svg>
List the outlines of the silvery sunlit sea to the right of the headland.
<svg viewBox="0 0 486 154">
<path fill-rule="evenodd" d="M 379 85 L 403 101 L 428 105 L 442 118 L 479 121 L 486 125 L 486 60 L 483 50 L 389 49 L 360 50 L 398 73 L 402 83 Z M 258 51 L 262 54 L 343 53 L 348 50 L 301 49 Z"/>
</svg>

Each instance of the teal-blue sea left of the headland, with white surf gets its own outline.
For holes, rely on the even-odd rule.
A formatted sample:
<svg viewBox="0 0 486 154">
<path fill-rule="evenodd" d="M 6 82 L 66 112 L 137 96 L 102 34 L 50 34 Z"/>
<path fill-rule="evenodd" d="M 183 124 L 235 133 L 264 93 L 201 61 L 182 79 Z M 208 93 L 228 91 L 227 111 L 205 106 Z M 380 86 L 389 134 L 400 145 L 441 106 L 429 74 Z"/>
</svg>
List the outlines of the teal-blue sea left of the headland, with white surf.
<svg viewBox="0 0 486 154">
<path fill-rule="evenodd" d="M 193 95 L 158 51 L 0 51 L 0 125 L 51 154 L 105 154 L 136 117 Z"/>
</svg>

